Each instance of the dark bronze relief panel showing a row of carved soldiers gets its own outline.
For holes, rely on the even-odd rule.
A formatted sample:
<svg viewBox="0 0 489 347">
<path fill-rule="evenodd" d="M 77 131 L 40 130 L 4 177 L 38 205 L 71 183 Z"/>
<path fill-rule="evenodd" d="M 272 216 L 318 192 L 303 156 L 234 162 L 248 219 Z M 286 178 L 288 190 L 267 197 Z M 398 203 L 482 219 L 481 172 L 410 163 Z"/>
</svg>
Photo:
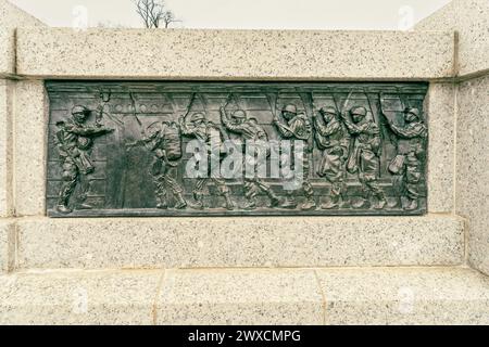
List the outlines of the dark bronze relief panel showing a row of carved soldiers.
<svg viewBox="0 0 489 347">
<path fill-rule="evenodd" d="M 426 213 L 426 83 L 47 90 L 51 217 Z"/>
</svg>

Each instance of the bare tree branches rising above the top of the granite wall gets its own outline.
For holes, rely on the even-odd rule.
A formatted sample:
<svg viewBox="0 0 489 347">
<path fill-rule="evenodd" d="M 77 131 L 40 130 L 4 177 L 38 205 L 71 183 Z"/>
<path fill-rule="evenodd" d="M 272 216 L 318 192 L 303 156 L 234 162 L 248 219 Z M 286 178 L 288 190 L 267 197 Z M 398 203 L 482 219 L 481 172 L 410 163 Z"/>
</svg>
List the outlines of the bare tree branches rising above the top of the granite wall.
<svg viewBox="0 0 489 347">
<path fill-rule="evenodd" d="M 166 10 L 164 0 L 134 0 L 136 12 L 147 28 L 159 28 L 162 24 L 168 28 L 172 23 L 180 22 L 171 10 Z"/>
</svg>

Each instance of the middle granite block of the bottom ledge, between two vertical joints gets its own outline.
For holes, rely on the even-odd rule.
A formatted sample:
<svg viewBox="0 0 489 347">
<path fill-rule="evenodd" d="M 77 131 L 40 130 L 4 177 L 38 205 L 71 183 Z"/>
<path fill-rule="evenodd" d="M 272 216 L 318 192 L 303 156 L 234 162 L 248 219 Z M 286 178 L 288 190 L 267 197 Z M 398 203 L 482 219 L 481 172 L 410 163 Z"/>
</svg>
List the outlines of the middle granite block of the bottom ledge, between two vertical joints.
<svg viewBox="0 0 489 347">
<path fill-rule="evenodd" d="M 313 270 L 168 270 L 158 324 L 323 323 Z"/>
</svg>

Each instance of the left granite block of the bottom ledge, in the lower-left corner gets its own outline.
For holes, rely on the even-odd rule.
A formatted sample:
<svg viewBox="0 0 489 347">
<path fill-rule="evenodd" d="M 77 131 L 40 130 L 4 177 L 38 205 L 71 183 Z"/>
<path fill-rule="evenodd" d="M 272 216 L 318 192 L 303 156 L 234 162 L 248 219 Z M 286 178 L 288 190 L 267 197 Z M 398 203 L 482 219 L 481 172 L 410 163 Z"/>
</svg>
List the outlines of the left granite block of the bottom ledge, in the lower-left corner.
<svg viewBox="0 0 489 347">
<path fill-rule="evenodd" d="M 0 277 L 0 324 L 151 324 L 163 271 Z"/>
</svg>

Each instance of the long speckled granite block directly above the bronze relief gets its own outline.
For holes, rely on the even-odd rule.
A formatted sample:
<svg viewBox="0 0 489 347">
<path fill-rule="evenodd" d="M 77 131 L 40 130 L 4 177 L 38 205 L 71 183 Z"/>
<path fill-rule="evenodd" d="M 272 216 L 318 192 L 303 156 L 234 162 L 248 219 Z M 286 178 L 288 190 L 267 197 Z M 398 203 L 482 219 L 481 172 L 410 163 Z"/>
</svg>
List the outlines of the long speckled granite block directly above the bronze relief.
<svg viewBox="0 0 489 347">
<path fill-rule="evenodd" d="M 453 33 L 20 29 L 17 73 L 70 78 L 429 79 Z"/>
</svg>

